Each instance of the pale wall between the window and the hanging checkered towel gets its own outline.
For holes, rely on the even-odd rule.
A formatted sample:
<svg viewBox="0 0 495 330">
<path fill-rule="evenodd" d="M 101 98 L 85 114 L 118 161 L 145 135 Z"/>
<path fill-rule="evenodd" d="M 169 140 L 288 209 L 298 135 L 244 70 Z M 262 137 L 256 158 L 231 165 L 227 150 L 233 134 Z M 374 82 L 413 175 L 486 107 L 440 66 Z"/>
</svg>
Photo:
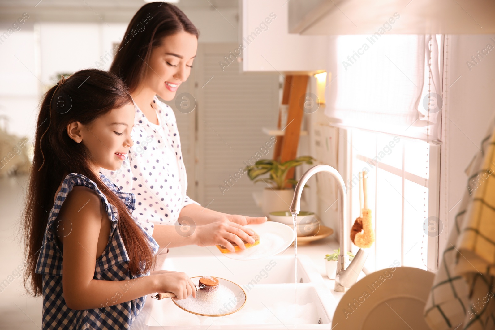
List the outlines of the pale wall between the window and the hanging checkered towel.
<svg viewBox="0 0 495 330">
<path fill-rule="evenodd" d="M 447 39 L 448 38 L 448 39 Z M 467 189 L 464 173 L 474 154 L 479 151 L 489 121 L 495 113 L 495 50 L 482 58 L 476 66 L 471 56 L 491 44 L 495 47 L 495 35 L 446 36 L 450 44 L 446 67 L 446 163 L 441 168 L 441 183 L 446 180 L 446 189 L 441 192 L 441 219 L 448 219 L 446 233 L 453 226 L 459 208 L 456 203 Z M 459 78 L 460 77 L 460 78 Z M 458 80 L 457 80 L 458 79 Z M 457 81 L 456 81 L 457 80 Z M 444 157 L 442 157 L 445 159 Z M 455 205 L 455 207 L 454 207 Z M 446 235 L 442 236 L 441 248 Z"/>
</svg>

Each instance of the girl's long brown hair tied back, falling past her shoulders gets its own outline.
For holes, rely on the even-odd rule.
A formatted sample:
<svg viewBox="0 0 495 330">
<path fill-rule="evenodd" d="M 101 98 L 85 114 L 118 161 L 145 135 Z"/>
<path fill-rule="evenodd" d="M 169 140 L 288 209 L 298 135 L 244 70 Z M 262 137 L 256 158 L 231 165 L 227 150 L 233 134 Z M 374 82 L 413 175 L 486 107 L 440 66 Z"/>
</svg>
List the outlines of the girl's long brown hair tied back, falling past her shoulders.
<svg viewBox="0 0 495 330">
<path fill-rule="evenodd" d="M 132 102 L 124 83 L 115 75 L 97 69 L 81 70 L 53 86 L 43 99 L 34 142 L 34 158 L 23 218 L 26 271 L 24 286 L 34 296 L 41 294 L 42 275 L 36 274 L 49 212 L 60 182 L 69 173 L 79 173 L 94 181 L 108 201 L 117 208 L 118 230 L 134 274 L 148 272 L 153 252 L 122 200 L 101 181 L 90 167 L 91 155 L 84 142 L 67 135 L 71 122 L 88 126 L 108 111 Z"/>
</svg>

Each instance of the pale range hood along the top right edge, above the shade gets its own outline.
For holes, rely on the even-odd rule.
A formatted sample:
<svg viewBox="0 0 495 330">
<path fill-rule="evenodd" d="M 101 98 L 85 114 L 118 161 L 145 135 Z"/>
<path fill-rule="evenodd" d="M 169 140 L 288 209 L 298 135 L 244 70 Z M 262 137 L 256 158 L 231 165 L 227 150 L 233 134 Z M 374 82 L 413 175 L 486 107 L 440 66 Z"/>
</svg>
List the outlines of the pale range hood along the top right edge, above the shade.
<svg viewBox="0 0 495 330">
<path fill-rule="evenodd" d="M 494 1 L 290 0 L 286 6 L 289 31 L 301 35 L 495 33 Z"/>
</svg>

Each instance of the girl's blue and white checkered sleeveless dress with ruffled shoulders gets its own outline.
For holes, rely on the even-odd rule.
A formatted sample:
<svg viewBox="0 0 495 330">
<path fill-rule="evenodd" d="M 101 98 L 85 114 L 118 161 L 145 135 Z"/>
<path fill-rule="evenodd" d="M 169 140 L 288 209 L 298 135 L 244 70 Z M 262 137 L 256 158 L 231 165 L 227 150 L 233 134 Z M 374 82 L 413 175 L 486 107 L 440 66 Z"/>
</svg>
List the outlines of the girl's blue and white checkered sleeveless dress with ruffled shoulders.
<svg viewBox="0 0 495 330">
<path fill-rule="evenodd" d="M 100 175 L 100 178 L 109 189 L 124 201 L 132 213 L 135 202 L 134 194 L 120 191 L 104 175 Z M 54 222 L 62 203 L 74 186 L 85 186 L 94 189 L 99 194 L 103 205 L 105 205 L 108 219 L 112 223 L 108 245 L 105 252 L 96 261 L 95 276 L 93 278 L 106 281 L 122 281 L 135 278 L 126 269 L 129 256 L 117 228 L 117 209 L 107 201 L 95 182 L 81 174 L 69 174 L 65 177 L 55 204 L 50 211 L 43 245 L 36 266 L 36 273 L 43 275 L 43 329 L 129 329 L 143 308 L 146 296 L 99 309 L 73 310 L 65 304 L 62 292 L 62 251 L 57 245 Z M 150 246 L 156 253 L 158 244 L 141 226 L 140 228 L 148 237 Z M 146 275 L 149 275 L 149 273 Z M 108 305 L 111 299 L 112 297 L 109 297 Z"/>
</svg>

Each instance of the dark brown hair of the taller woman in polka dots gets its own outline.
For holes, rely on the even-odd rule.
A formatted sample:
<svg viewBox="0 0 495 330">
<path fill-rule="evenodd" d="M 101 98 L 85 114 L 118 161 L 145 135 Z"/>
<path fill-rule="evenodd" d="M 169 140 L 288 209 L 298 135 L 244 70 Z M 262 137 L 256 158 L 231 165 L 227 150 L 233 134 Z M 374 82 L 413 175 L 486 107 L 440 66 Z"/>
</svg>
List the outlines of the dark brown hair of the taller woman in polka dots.
<svg viewBox="0 0 495 330">
<path fill-rule="evenodd" d="M 198 29 L 186 14 L 173 4 L 145 4 L 129 23 L 109 71 L 134 91 L 145 78 L 151 49 L 159 47 L 164 37 L 182 31 L 198 38 Z"/>
</svg>

